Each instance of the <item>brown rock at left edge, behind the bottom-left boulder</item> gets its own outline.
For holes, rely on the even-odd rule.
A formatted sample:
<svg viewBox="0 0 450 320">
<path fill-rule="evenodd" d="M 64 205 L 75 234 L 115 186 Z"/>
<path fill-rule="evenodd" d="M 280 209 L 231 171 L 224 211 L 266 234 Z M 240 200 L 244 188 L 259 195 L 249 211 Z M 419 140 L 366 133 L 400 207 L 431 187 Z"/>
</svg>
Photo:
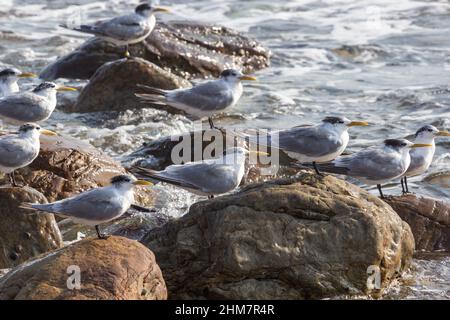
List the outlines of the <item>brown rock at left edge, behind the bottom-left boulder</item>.
<svg viewBox="0 0 450 320">
<path fill-rule="evenodd" d="M 0 269 L 20 263 L 62 246 L 62 238 L 52 214 L 30 214 L 20 209 L 23 202 L 46 203 L 31 188 L 0 187 Z"/>
</svg>

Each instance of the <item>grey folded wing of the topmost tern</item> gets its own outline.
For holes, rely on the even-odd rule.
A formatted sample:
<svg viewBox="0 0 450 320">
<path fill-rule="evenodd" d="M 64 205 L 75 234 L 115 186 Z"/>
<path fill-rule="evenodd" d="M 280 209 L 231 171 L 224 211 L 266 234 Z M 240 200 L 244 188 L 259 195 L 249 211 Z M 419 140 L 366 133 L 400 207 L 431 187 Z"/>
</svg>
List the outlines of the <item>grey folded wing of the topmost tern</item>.
<svg viewBox="0 0 450 320">
<path fill-rule="evenodd" d="M 126 15 L 104 21 L 94 27 L 98 34 L 117 40 L 127 41 L 145 36 L 150 26 L 136 18 L 135 15 Z"/>
</svg>

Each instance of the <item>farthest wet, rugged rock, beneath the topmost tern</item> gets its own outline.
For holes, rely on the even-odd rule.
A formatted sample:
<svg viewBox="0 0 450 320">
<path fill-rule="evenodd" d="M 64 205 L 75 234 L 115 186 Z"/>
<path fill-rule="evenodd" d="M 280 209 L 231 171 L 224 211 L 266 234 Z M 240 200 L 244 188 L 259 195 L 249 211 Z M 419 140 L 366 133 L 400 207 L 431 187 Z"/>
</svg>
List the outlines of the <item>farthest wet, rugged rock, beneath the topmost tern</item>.
<svg viewBox="0 0 450 320">
<path fill-rule="evenodd" d="M 39 76 L 45 80 L 89 79 L 106 62 L 123 58 L 124 50 L 93 38 L 47 66 Z M 159 22 L 145 42 L 130 46 L 130 53 L 186 79 L 218 76 L 228 67 L 250 73 L 268 67 L 271 54 L 229 28 L 188 21 Z"/>
</svg>

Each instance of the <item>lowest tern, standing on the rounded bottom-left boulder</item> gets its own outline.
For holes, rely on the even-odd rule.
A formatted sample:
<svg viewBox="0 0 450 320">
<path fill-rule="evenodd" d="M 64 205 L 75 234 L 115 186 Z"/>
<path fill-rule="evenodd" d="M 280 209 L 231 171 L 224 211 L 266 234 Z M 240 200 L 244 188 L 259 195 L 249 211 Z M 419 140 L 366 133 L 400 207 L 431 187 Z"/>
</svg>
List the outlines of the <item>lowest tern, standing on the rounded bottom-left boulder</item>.
<svg viewBox="0 0 450 320">
<path fill-rule="evenodd" d="M 123 215 L 134 202 L 134 186 L 150 186 L 152 183 L 137 180 L 128 175 L 111 179 L 111 185 L 95 188 L 71 198 L 48 204 L 22 204 L 21 208 L 50 212 L 70 218 L 75 223 L 94 226 L 97 236 L 106 239 L 99 225 Z"/>
</svg>

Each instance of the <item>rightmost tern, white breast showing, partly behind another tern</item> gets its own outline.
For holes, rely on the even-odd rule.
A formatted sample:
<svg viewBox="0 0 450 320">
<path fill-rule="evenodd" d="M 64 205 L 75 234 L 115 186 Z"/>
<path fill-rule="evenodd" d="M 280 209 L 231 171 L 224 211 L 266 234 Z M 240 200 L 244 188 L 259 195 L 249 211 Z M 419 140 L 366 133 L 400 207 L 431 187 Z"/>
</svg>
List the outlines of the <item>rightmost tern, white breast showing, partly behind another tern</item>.
<svg viewBox="0 0 450 320">
<path fill-rule="evenodd" d="M 407 178 L 421 175 L 430 167 L 431 162 L 433 161 L 434 151 L 436 150 L 434 138 L 440 136 L 448 137 L 450 136 L 450 133 L 447 131 L 439 131 L 432 125 L 426 125 L 417 130 L 414 143 L 430 144 L 431 147 L 413 149 L 409 152 L 411 156 L 411 164 L 403 177 L 400 179 L 403 194 L 409 193 Z"/>
</svg>

